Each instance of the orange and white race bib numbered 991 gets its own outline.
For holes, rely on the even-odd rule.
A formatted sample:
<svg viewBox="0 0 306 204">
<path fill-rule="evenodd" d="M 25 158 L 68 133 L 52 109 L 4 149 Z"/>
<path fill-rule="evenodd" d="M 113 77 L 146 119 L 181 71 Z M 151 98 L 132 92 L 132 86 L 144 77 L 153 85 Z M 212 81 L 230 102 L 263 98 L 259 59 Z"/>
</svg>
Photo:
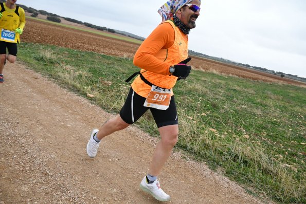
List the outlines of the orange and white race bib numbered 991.
<svg viewBox="0 0 306 204">
<path fill-rule="evenodd" d="M 166 110 L 170 100 L 171 89 L 163 89 L 153 85 L 143 106 Z"/>
</svg>

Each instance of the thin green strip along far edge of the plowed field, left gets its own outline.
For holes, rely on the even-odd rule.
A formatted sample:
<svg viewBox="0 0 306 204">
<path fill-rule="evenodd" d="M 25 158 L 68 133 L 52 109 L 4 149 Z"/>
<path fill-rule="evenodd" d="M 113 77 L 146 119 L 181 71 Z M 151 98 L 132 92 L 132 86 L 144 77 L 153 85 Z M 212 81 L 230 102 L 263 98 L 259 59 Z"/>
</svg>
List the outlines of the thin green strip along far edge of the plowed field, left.
<svg viewBox="0 0 306 204">
<path fill-rule="evenodd" d="M 48 21 L 48 20 L 44 20 L 44 19 L 37 18 L 37 17 L 32 17 L 32 16 L 26 16 L 26 17 L 30 18 L 32 20 L 41 21 L 41 22 L 50 23 L 50 24 L 55 24 L 55 25 L 66 27 L 66 28 L 73 28 L 73 29 L 76 29 L 76 30 L 82 30 L 82 31 L 86 31 L 86 32 L 91 32 L 91 33 L 103 35 L 103 36 L 106 36 L 106 37 L 109 37 L 109 38 L 114 38 L 114 39 L 118 39 L 118 40 L 122 40 L 122 41 L 128 41 L 128 42 L 137 43 L 137 44 L 141 44 L 142 43 L 142 41 L 139 41 L 137 39 L 128 38 L 128 37 L 125 37 L 123 35 L 116 35 L 116 34 L 113 34 L 113 33 L 102 32 L 102 31 L 99 31 L 99 30 L 91 30 L 89 28 L 88 29 L 80 28 L 80 27 L 77 27 L 77 26 L 67 25 L 67 24 L 62 24 L 62 23 L 57 23 L 57 22 L 52 22 L 52 21 Z"/>
</svg>

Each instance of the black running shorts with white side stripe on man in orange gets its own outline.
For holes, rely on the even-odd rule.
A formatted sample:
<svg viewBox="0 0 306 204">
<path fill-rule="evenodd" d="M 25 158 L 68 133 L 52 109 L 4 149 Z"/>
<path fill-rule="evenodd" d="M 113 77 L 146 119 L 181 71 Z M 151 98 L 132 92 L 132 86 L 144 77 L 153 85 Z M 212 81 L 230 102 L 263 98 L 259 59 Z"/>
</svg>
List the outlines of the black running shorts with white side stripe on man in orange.
<svg viewBox="0 0 306 204">
<path fill-rule="evenodd" d="M 133 124 L 143 114 L 145 114 L 148 109 L 150 109 L 157 127 L 178 124 L 174 96 L 171 97 L 170 105 L 167 110 L 145 107 L 143 106 L 145 101 L 146 98 L 139 96 L 131 88 L 127 100 L 125 101 L 119 113 L 122 120 L 128 124 Z"/>
</svg>

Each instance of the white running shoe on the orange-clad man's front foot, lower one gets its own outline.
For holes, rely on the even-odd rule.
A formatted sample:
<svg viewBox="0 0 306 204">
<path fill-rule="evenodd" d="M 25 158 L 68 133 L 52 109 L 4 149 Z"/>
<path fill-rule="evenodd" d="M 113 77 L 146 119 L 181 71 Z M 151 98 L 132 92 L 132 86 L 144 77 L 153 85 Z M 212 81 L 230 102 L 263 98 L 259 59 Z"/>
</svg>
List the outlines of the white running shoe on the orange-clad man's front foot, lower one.
<svg viewBox="0 0 306 204">
<path fill-rule="evenodd" d="M 155 199 L 159 201 L 169 201 L 170 195 L 166 194 L 163 189 L 160 188 L 159 181 L 156 180 L 153 183 L 147 183 L 146 176 L 142 179 L 139 185 L 142 191 L 151 194 Z"/>
</svg>

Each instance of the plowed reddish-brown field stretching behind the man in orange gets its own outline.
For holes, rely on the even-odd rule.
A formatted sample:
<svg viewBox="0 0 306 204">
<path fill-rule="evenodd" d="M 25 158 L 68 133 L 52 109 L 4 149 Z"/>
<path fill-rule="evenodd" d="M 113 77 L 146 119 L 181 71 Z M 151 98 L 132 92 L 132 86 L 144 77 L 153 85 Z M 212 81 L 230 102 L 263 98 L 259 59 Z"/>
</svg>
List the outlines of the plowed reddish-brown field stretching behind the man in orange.
<svg viewBox="0 0 306 204">
<path fill-rule="evenodd" d="M 86 27 L 84 27 L 86 28 Z M 89 29 L 89 28 L 87 28 Z M 101 31 L 102 32 L 102 31 Z M 120 41 L 113 38 L 86 31 L 66 28 L 58 25 L 27 19 L 26 28 L 22 35 L 23 42 L 51 44 L 71 49 L 93 51 L 106 55 L 133 58 L 139 44 Z M 190 64 L 195 69 L 215 71 L 224 75 L 233 75 L 241 78 L 264 82 L 279 82 L 306 86 L 306 83 L 281 78 L 265 72 L 251 70 L 235 65 L 228 65 L 199 57 L 192 57 Z"/>
</svg>

